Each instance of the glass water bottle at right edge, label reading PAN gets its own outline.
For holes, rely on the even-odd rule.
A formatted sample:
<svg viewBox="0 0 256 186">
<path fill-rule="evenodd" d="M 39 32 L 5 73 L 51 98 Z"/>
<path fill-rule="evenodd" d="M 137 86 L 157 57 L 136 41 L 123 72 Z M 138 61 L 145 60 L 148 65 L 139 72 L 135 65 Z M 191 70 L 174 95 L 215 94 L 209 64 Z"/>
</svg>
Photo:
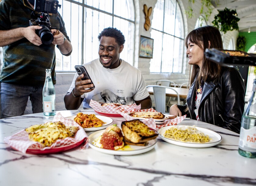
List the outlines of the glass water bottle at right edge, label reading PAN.
<svg viewBox="0 0 256 186">
<path fill-rule="evenodd" d="M 242 156 L 256 158 L 256 79 L 242 117 L 238 152 Z"/>
</svg>

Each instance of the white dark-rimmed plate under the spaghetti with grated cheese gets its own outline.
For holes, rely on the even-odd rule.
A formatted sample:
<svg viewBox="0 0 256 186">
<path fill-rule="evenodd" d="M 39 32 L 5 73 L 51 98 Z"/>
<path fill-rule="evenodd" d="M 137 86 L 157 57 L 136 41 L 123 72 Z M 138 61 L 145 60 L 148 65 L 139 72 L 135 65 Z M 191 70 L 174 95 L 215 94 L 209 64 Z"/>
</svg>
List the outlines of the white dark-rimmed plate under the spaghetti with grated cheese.
<svg viewBox="0 0 256 186">
<path fill-rule="evenodd" d="M 209 142 L 206 143 L 193 143 L 193 142 L 182 142 L 182 141 L 178 141 L 175 139 L 170 139 L 170 138 L 166 138 L 164 136 L 164 133 L 166 130 L 168 130 L 171 127 L 176 127 L 176 126 L 184 126 L 184 127 L 188 127 L 186 125 L 172 125 L 172 126 L 165 126 L 161 129 L 158 130 L 158 134 L 159 136 L 166 142 L 174 144 L 174 145 L 179 145 L 179 146 L 186 146 L 186 147 L 194 147 L 194 148 L 203 148 L 203 147 L 210 147 L 210 146 L 215 146 L 218 145 L 221 142 L 221 135 L 219 135 L 218 133 L 209 130 L 209 129 L 204 129 L 201 127 L 196 127 L 197 130 L 203 132 L 205 135 L 208 135 L 209 138 L 212 138 L 212 140 L 210 140 Z"/>
</svg>

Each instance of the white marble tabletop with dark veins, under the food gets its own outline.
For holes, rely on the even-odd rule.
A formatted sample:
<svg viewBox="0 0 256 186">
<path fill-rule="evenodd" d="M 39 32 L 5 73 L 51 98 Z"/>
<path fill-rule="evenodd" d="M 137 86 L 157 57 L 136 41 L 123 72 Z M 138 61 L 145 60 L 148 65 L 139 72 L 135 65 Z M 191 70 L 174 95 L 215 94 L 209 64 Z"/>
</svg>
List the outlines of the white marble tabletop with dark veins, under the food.
<svg viewBox="0 0 256 186">
<path fill-rule="evenodd" d="M 81 110 L 85 111 L 85 110 Z M 86 110 L 94 113 L 93 110 Z M 61 111 L 64 117 L 78 110 Z M 12 150 L 3 138 L 34 124 L 52 121 L 43 113 L 0 120 L 0 185 L 255 185 L 256 159 L 240 156 L 239 135 L 185 119 L 218 132 L 222 142 L 208 148 L 169 144 L 158 138 L 155 148 L 132 156 L 115 156 L 88 149 L 60 154 L 31 155 Z M 118 125 L 122 119 L 115 121 Z"/>
</svg>

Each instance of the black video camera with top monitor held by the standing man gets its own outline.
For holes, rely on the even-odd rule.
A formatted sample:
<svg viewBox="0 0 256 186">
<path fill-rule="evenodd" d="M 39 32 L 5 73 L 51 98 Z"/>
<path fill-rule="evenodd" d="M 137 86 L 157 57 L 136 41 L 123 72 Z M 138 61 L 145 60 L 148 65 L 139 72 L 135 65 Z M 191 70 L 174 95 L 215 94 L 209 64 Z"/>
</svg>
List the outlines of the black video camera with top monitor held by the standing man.
<svg viewBox="0 0 256 186">
<path fill-rule="evenodd" d="M 42 26 L 41 29 L 36 30 L 36 33 L 44 44 L 51 44 L 53 41 L 53 34 L 50 31 L 52 26 L 49 13 L 58 13 L 58 7 L 61 7 L 61 5 L 59 5 L 59 1 L 57 0 L 35 0 L 35 12 L 31 13 L 29 26 Z"/>
</svg>

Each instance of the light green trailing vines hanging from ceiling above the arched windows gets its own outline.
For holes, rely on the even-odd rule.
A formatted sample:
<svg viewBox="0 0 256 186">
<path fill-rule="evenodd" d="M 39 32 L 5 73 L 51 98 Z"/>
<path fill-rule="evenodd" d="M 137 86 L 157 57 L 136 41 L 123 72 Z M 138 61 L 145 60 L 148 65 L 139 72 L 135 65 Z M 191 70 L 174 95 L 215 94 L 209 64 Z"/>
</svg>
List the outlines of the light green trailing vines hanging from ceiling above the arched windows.
<svg viewBox="0 0 256 186">
<path fill-rule="evenodd" d="M 195 0 L 188 0 L 188 7 L 187 10 L 185 10 L 185 13 L 188 15 L 190 19 L 193 17 L 192 4 L 194 3 Z M 201 0 L 200 15 L 203 15 L 206 21 L 208 21 L 209 16 L 211 16 L 212 10 L 213 6 L 210 0 Z"/>
</svg>

